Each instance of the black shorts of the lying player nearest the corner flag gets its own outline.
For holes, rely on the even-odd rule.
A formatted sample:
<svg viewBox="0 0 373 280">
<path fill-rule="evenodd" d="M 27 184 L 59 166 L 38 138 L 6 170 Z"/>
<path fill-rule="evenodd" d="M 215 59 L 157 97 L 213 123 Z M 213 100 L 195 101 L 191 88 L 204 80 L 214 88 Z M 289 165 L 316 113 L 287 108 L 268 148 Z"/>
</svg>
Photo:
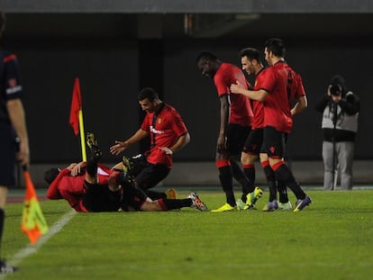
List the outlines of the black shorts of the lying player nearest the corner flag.
<svg viewBox="0 0 373 280">
<path fill-rule="evenodd" d="M 122 192 L 112 192 L 107 184 L 84 182 L 83 205 L 88 212 L 116 212 L 121 207 Z"/>
</svg>

